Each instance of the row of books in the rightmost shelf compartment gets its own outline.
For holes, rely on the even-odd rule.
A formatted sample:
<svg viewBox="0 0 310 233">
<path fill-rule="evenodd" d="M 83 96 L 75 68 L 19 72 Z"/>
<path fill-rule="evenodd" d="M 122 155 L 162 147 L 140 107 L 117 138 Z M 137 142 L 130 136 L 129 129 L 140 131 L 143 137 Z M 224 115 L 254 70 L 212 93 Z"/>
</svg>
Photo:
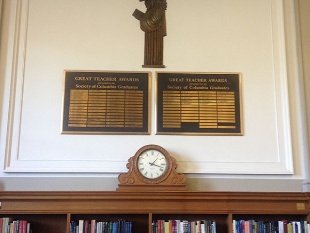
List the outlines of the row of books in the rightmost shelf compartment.
<svg viewBox="0 0 310 233">
<path fill-rule="evenodd" d="M 310 233 L 307 221 L 233 220 L 233 233 Z"/>
</svg>

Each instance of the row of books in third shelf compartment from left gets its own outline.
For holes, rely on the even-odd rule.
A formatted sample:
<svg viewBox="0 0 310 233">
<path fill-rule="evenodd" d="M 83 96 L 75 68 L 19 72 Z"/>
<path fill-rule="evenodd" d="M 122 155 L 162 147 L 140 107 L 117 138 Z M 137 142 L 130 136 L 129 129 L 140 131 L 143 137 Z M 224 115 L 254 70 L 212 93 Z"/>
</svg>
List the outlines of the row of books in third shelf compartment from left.
<svg viewBox="0 0 310 233">
<path fill-rule="evenodd" d="M 213 220 L 154 220 L 152 233 L 217 233 Z"/>
</svg>

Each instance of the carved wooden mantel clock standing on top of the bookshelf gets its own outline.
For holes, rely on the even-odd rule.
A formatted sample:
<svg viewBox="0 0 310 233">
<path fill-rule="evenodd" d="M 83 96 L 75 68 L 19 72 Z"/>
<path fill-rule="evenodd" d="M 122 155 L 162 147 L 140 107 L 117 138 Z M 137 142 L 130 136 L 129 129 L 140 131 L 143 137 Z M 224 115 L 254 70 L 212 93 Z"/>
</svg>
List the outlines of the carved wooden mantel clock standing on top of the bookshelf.
<svg viewBox="0 0 310 233">
<path fill-rule="evenodd" d="M 118 176 L 117 191 L 187 191 L 176 160 L 157 145 L 146 145 L 128 159 L 127 173 Z"/>
</svg>

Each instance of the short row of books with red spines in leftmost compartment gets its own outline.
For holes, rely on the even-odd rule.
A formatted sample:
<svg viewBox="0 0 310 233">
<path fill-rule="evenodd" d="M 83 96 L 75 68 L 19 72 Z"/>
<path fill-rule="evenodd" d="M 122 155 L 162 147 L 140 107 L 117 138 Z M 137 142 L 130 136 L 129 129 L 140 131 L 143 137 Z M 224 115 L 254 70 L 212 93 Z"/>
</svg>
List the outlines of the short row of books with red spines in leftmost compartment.
<svg viewBox="0 0 310 233">
<path fill-rule="evenodd" d="M 30 226 L 27 220 L 14 220 L 12 217 L 0 218 L 0 233 L 31 233 Z"/>
</svg>

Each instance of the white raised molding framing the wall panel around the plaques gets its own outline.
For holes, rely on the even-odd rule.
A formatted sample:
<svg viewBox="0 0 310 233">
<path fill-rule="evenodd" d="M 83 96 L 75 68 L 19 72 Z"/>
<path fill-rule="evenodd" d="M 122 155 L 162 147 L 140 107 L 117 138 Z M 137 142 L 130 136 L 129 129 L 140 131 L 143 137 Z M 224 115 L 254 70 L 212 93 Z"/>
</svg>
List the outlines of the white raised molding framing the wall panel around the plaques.
<svg viewBox="0 0 310 233">
<path fill-rule="evenodd" d="M 11 93 L 9 101 L 9 120 L 6 135 L 5 172 L 95 172 L 116 173 L 126 171 L 126 161 L 60 161 L 53 160 L 21 160 L 19 159 L 20 122 L 22 118 L 23 84 L 26 57 L 26 39 L 28 11 L 30 0 L 16 0 L 16 19 L 13 62 L 11 73 Z M 285 0 L 270 0 L 273 30 L 273 60 L 275 99 L 278 120 L 278 161 L 263 163 L 237 162 L 178 162 L 179 172 L 183 173 L 214 173 L 214 174 L 293 174 L 293 153 L 291 138 L 291 122 L 289 115 L 288 75 L 286 49 L 296 50 L 294 44 L 286 44 L 285 37 L 293 33 L 285 31 L 285 16 L 283 2 Z M 290 0 L 293 2 L 293 0 Z M 294 10 L 289 12 L 294 15 Z M 287 47 L 290 48 L 287 48 Z M 297 58 L 294 58 L 297 59 Z M 291 77 L 294 78 L 294 77 Z M 297 82 L 297 77 L 295 77 Z M 246 111 L 246 109 L 244 110 Z M 247 126 L 245 126 L 247 127 Z"/>
</svg>

